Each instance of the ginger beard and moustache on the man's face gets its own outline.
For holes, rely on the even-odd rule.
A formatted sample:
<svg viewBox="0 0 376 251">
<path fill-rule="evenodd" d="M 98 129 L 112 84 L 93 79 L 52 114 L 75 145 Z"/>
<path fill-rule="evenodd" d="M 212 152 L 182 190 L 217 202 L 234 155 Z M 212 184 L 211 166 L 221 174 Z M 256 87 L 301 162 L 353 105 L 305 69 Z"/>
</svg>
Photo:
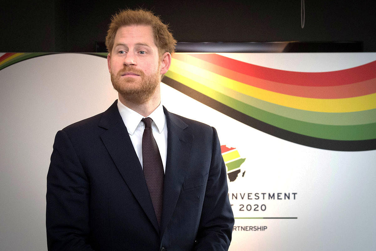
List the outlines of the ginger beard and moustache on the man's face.
<svg viewBox="0 0 376 251">
<path fill-rule="evenodd" d="M 155 73 L 146 75 L 142 70 L 134 67 L 124 66 L 118 73 L 111 71 L 112 86 L 126 100 L 136 104 L 143 104 L 150 100 L 158 84 L 161 82 L 159 67 Z M 141 79 L 122 77 L 125 72 L 133 72 Z"/>
</svg>

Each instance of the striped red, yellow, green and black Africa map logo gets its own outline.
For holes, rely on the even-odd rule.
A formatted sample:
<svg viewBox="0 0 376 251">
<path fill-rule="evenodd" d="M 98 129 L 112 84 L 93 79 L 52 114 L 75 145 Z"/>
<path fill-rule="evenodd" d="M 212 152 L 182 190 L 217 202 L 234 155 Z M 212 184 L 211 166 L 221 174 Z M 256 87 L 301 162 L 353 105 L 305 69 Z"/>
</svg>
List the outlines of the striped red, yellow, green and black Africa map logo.
<svg viewBox="0 0 376 251">
<path fill-rule="evenodd" d="M 223 161 L 227 167 L 227 176 L 230 182 L 235 181 L 238 174 L 241 172 L 240 166 L 246 161 L 245 158 L 240 158 L 240 154 L 236 148 L 228 148 L 226 145 L 221 145 L 221 153 Z M 242 176 L 244 177 L 243 172 Z"/>
</svg>

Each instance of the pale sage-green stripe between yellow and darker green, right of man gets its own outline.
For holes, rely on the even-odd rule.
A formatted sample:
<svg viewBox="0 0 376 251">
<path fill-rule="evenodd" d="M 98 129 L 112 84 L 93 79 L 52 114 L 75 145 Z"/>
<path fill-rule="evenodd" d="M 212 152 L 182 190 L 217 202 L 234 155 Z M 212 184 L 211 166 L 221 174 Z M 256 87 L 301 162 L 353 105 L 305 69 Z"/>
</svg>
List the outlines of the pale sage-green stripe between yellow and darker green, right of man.
<svg viewBox="0 0 376 251">
<path fill-rule="evenodd" d="M 176 73 L 179 76 L 192 76 L 193 73 L 179 68 L 178 72 L 168 71 L 165 75 L 170 77 L 170 73 Z M 287 106 L 277 105 L 271 102 L 266 102 L 255 97 L 248 96 L 247 94 L 232 90 L 224 87 L 223 85 L 211 82 L 209 79 L 205 79 L 202 76 L 194 75 L 195 78 L 199 78 L 201 85 L 205 85 L 212 90 L 218 91 L 221 94 L 237 99 L 247 105 L 259 108 L 270 113 L 277 114 L 279 116 L 287 117 L 294 120 L 300 120 L 308 123 L 316 123 L 322 125 L 362 125 L 369 123 L 376 123 L 376 109 L 358 111 L 352 113 L 322 113 L 315 111 L 306 111 Z M 170 77 L 173 78 L 173 77 Z M 191 79 L 191 78 L 190 78 Z M 175 79 L 178 80 L 178 79 Z M 191 79 L 191 81 L 193 81 Z M 209 84 L 211 82 L 211 84 Z M 208 84 L 206 84 L 208 83 Z M 375 83 L 376 84 L 376 83 Z"/>
</svg>

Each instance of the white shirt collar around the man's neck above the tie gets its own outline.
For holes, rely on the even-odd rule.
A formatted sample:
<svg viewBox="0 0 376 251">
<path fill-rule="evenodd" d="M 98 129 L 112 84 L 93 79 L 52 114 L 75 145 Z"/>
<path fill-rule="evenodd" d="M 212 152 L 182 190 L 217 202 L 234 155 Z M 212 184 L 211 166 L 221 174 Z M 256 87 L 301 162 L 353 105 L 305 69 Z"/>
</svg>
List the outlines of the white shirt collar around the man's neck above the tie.
<svg viewBox="0 0 376 251">
<path fill-rule="evenodd" d="M 118 100 L 117 102 L 117 107 L 128 133 L 130 135 L 133 135 L 138 124 L 141 122 L 141 119 L 143 119 L 144 116 L 128 108 L 123 103 L 121 103 L 120 100 Z M 157 126 L 159 133 L 161 133 L 166 122 L 166 116 L 163 112 L 162 103 L 159 103 L 158 107 L 148 117 L 153 120 L 153 122 Z"/>
</svg>

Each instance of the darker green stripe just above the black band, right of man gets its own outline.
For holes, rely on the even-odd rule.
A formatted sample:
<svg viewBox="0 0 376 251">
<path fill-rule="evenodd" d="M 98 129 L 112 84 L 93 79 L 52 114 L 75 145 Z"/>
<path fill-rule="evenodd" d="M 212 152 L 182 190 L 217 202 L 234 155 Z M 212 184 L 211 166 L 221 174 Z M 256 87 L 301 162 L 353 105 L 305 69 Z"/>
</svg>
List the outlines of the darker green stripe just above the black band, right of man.
<svg viewBox="0 0 376 251">
<path fill-rule="evenodd" d="M 177 73 L 168 71 L 166 73 L 171 79 L 185 84 L 192 81 Z M 218 91 L 215 91 L 205 85 L 195 82 L 199 86 L 200 93 L 211 97 L 218 102 L 223 103 L 241 113 L 244 113 L 250 117 L 261 120 L 262 122 L 270 125 L 285 129 L 287 131 L 295 132 L 302 135 L 307 135 L 316 138 L 324 138 L 331 140 L 368 140 L 376 138 L 376 123 L 368 123 L 364 125 L 321 125 L 317 123 L 303 122 L 295 119 L 290 119 L 284 116 L 279 116 L 254 106 L 248 105 L 244 102 L 240 102 L 237 99 L 226 96 Z M 187 84 L 186 84 L 187 85 Z M 189 85 L 187 85 L 190 87 Z M 192 87 L 190 87 L 192 88 Z"/>
</svg>

